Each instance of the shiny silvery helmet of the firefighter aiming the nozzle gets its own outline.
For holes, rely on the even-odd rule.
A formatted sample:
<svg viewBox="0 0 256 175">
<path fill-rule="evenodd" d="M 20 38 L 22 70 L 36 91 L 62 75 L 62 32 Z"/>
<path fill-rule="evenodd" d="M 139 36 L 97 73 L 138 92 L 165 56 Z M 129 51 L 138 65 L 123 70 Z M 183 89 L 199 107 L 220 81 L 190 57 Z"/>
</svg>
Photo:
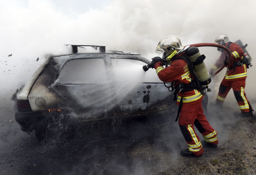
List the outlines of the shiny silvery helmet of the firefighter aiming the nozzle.
<svg viewBox="0 0 256 175">
<path fill-rule="evenodd" d="M 177 53 L 183 49 L 180 39 L 175 35 L 165 36 L 157 45 L 155 53 L 169 53 L 170 55 L 175 50 Z M 167 56 L 168 56 L 167 55 Z"/>
</svg>

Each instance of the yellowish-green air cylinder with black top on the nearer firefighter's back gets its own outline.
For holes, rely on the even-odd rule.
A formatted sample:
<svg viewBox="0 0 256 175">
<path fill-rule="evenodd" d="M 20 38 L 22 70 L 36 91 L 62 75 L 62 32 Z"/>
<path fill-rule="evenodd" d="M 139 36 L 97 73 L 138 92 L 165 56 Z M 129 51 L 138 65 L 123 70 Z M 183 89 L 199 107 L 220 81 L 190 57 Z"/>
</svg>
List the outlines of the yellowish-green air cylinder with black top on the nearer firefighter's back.
<svg viewBox="0 0 256 175">
<path fill-rule="evenodd" d="M 205 56 L 200 54 L 199 49 L 195 46 L 188 48 L 187 56 L 188 60 L 194 65 L 193 68 L 199 83 L 203 86 L 211 83 L 211 77 L 203 61 Z"/>
</svg>

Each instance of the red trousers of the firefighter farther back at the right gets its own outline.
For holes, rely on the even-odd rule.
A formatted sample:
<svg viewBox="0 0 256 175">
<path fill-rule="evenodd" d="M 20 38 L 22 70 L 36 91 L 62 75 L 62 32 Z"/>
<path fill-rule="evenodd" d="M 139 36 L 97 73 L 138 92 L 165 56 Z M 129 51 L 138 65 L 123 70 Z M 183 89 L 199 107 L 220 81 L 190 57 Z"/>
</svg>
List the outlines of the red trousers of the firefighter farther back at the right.
<svg viewBox="0 0 256 175">
<path fill-rule="evenodd" d="M 242 112 L 249 112 L 249 110 L 251 108 L 251 104 L 246 97 L 246 93 L 244 92 L 245 81 L 246 81 L 246 79 L 228 81 L 224 77 L 220 83 L 219 92 L 218 92 L 218 96 L 217 96 L 216 100 L 220 103 L 223 103 L 225 98 L 228 95 L 228 92 L 232 88 L 233 92 L 234 92 L 234 96 L 235 96 L 237 103 L 240 107 L 240 110 Z"/>
</svg>

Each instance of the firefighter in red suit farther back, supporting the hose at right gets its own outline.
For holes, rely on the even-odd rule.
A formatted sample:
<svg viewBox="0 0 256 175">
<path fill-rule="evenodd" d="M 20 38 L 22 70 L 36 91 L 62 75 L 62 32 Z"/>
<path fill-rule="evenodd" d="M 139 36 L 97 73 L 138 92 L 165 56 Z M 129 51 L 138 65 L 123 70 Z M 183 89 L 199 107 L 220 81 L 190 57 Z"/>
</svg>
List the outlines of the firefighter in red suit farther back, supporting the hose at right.
<svg viewBox="0 0 256 175">
<path fill-rule="evenodd" d="M 243 49 L 236 43 L 230 42 L 226 34 L 220 34 L 216 37 L 215 43 L 226 46 L 231 51 L 231 59 L 225 67 L 227 67 L 227 73 L 220 83 L 219 92 L 217 95 L 217 105 L 222 106 L 223 102 L 228 95 L 230 89 L 233 89 L 234 96 L 237 100 L 238 106 L 241 110 L 240 116 L 253 116 L 253 109 L 250 102 L 246 97 L 244 91 L 245 81 L 247 77 L 247 65 L 243 62 Z M 214 73 L 221 66 L 225 59 L 228 58 L 228 53 L 222 49 L 219 59 L 210 69 L 210 74 Z M 246 58 L 245 58 L 246 59 Z"/>
</svg>

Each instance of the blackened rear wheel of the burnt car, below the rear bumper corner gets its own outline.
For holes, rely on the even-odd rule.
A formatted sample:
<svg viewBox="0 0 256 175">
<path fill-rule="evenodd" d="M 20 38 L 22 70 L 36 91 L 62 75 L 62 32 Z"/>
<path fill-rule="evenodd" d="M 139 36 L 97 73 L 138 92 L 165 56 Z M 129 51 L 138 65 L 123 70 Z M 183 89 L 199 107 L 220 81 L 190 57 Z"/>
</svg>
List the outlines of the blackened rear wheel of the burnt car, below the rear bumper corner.
<svg viewBox="0 0 256 175">
<path fill-rule="evenodd" d="M 36 138 L 39 143 L 63 143 L 73 136 L 73 130 L 61 120 L 45 118 L 40 121 L 36 128 Z"/>
</svg>

